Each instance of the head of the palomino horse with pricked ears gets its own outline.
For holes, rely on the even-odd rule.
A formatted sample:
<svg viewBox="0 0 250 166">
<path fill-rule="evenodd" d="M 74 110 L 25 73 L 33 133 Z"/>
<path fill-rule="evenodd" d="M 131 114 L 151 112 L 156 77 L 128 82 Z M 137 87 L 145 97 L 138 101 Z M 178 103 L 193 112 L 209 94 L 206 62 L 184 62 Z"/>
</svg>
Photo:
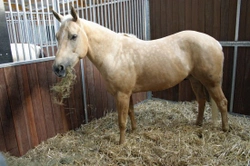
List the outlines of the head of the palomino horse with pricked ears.
<svg viewBox="0 0 250 166">
<path fill-rule="evenodd" d="M 74 8 L 71 15 L 62 16 L 53 11 L 56 19 L 61 22 L 56 33 L 58 50 L 53 64 L 53 71 L 58 77 L 66 76 L 66 68 L 73 67 L 80 58 L 86 56 L 88 51 L 88 39 L 83 30 L 81 20 Z"/>
</svg>

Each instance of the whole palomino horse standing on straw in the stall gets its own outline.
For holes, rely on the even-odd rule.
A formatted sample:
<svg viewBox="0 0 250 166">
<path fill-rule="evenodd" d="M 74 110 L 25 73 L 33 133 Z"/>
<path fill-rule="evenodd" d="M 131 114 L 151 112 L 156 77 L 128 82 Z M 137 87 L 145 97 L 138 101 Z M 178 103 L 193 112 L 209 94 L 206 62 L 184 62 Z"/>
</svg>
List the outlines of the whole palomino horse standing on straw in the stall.
<svg viewBox="0 0 250 166">
<path fill-rule="evenodd" d="M 222 89 L 224 55 L 214 38 L 195 31 L 183 31 L 165 38 L 142 41 L 115 33 L 96 23 L 53 11 L 61 22 L 56 34 L 58 51 L 53 71 L 59 77 L 66 68 L 88 56 L 104 77 L 108 91 L 116 98 L 120 144 L 125 141 L 127 116 L 136 128 L 132 93 L 158 91 L 175 86 L 185 78 L 192 84 L 199 107 L 197 125 L 202 124 L 206 95 L 214 99 L 222 117 L 222 129 L 229 130 L 227 99 Z"/>
</svg>

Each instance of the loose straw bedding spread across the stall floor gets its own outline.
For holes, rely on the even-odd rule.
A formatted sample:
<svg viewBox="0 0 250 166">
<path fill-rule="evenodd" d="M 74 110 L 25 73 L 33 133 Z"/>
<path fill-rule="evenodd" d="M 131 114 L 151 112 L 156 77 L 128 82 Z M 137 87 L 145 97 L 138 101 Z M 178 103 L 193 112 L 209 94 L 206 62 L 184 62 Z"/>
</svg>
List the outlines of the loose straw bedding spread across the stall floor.
<svg viewBox="0 0 250 166">
<path fill-rule="evenodd" d="M 194 125 L 195 102 L 149 100 L 135 107 L 137 131 L 117 145 L 117 113 L 58 134 L 9 165 L 247 165 L 250 120 L 229 115 L 230 132 L 211 124 L 206 106 L 204 125 Z M 130 121 L 128 121 L 130 127 Z"/>
</svg>

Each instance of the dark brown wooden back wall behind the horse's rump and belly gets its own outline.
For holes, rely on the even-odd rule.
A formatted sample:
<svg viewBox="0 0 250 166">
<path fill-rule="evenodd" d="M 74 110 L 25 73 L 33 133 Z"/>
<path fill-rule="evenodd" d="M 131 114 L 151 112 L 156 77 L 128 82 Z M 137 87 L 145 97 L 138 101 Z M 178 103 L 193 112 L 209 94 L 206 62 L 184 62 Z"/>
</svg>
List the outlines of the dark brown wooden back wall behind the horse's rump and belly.
<svg viewBox="0 0 250 166">
<path fill-rule="evenodd" d="M 151 39 L 164 37 L 182 30 L 196 30 L 207 33 L 219 41 L 234 41 L 237 1 L 228 0 L 150 0 Z M 250 2 L 242 0 L 239 40 L 250 40 Z M 246 99 L 249 98 L 249 48 L 240 48 L 236 77 L 235 101 L 230 101 L 233 47 L 223 48 L 224 77 L 223 91 L 234 102 L 234 112 L 250 114 Z M 166 64 L 167 65 L 167 64 Z M 153 97 L 167 100 L 194 100 L 188 80 Z M 240 101 L 239 101 L 240 100 Z M 243 108 L 244 107 L 244 108 Z"/>
</svg>

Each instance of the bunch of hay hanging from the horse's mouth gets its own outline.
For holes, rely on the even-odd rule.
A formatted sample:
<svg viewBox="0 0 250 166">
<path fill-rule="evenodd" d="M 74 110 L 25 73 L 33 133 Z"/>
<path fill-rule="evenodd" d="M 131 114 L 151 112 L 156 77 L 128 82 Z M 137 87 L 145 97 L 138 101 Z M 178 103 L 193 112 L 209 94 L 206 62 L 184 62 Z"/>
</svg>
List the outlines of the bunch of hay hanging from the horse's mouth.
<svg viewBox="0 0 250 166">
<path fill-rule="evenodd" d="M 74 68 L 68 67 L 66 69 L 66 77 L 62 78 L 51 87 L 53 92 L 53 101 L 56 104 L 63 105 L 63 99 L 70 96 L 73 85 L 76 82 L 76 74 Z"/>
</svg>

